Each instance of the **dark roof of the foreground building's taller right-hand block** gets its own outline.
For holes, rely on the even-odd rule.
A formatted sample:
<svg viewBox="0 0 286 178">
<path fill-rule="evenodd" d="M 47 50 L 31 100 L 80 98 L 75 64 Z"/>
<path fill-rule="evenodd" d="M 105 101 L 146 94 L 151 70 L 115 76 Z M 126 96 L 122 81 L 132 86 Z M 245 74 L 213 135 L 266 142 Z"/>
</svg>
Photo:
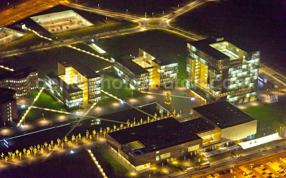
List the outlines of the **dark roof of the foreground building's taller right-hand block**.
<svg viewBox="0 0 286 178">
<path fill-rule="evenodd" d="M 255 120 L 226 100 L 193 108 L 219 128 L 227 128 Z"/>
</svg>

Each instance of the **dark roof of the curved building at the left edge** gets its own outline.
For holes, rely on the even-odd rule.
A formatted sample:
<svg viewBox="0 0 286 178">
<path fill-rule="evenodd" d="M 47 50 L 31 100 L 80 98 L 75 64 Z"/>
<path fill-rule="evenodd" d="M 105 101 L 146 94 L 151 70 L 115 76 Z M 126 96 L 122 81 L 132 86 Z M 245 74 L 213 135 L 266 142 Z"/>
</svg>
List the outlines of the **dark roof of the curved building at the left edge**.
<svg viewBox="0 0 286 178">
<path fill-rule="evenodd" d="M 6 78 L 22 79 L 22 78 L 26 78 L 27 76 L 29 76 L 32 72 L 38 72 L 38 70 L 32 67 L 26 67 L 26 68 L 14 70 L 11 72 L 5 72 L 1 74 L 0 80 L 6 79 Z"/>
</svg>

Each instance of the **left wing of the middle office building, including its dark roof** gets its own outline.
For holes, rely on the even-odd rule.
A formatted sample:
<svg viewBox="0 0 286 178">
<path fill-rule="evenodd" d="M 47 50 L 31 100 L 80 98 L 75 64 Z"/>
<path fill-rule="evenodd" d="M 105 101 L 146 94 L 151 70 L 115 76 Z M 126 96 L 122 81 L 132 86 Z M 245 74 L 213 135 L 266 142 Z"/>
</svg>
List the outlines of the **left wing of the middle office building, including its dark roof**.
<svg viewBox="0 0 286 178">
<path fill-rule="evenodd" d="M 111 58 L 112 71 L 127 82 L 133 90 L 146 90 L 149 88 L 149 72 L 133 62 L 136 58 L 130 54 Z"/>
</svg>

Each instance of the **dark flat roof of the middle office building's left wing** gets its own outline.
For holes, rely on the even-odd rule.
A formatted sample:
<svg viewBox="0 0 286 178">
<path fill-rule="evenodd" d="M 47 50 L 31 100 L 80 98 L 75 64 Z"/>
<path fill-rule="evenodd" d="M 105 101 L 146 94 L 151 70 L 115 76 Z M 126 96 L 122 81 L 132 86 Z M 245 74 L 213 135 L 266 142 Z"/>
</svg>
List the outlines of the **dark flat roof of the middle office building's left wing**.
<svg viewBox="0 0 286 178">
<path fill-rule="evenodd" d="M 136 75 L 149 73 L 146 69 L 142 68 L 140 65 L 133 62 L 132 60 L 134 58 L 135 57 L 132 56 L 131 54 L 126 54 L 122 56 L 117 56 L 113 59 L 116 60 L 118 63 L 122 64 L 123 66 L 125 66 L 126 68 L 128 68 L 131 72 L 133 72 Z"/>
</svg>

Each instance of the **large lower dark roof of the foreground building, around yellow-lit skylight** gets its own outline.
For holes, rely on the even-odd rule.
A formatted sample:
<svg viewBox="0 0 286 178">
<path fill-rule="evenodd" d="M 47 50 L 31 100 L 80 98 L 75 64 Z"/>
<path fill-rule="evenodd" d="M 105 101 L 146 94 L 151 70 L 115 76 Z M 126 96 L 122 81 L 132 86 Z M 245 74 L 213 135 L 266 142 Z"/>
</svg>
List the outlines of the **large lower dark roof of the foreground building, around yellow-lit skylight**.
<svg viewBox="0 0 286 178">
<path fill-rule="evenodd" d="M 120 145 L 138 141 L 142 148 L 136 150 L 122 150 L 134 156 L 142 155 L 175 145 L 201 139 L 197 133 L 211 130 L 213 127 L 202 118 L 178 122 L 173 117 L 149 122 L 135 127 L 129 127 L 108 135 Z"/>
</svg>

